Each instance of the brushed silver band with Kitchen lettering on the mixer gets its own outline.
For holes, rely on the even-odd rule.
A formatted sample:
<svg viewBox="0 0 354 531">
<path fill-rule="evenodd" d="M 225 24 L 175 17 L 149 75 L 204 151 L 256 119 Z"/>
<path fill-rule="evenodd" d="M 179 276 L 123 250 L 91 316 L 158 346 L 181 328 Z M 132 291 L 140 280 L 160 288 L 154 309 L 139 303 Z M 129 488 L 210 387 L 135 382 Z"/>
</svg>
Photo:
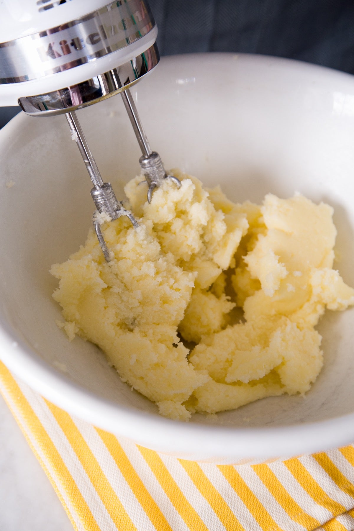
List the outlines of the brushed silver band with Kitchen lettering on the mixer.
<svg viewBox="0 0 354 531">
<path fill-rule="evenodd" d="M 103 57 L 155 25 L 145 0 L 118 0 L 81 19 L 0 43 L 0 84 L 21 83 Z"/>
</svg>

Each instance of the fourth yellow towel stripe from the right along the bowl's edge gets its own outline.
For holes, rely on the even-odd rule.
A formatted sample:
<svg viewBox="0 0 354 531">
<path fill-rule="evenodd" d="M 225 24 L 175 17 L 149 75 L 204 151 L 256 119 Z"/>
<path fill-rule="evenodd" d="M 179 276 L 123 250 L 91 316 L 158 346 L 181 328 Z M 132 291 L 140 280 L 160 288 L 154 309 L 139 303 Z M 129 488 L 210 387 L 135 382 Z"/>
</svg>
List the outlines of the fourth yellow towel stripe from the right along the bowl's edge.
<svg viewBox="0 0 354 531">
<path fill-rule="evenodd" d="M 272 493 L 275 500 L 281 505 L 281 507 L 288 513 L 290 518 L 296 521 L 301 526 L 305 527 L 309 531 L 320 525 L 320 522 L 307 515 L 307 513 L 301 509 L 296 501 L 291 498 L 288 491 L 284 489 L 279 479 L 273 473 L 273 470 L 267 465 L 253 465 L 253 470 L 258 477 L 262 480 L 267 489 Z"/>
</svg>

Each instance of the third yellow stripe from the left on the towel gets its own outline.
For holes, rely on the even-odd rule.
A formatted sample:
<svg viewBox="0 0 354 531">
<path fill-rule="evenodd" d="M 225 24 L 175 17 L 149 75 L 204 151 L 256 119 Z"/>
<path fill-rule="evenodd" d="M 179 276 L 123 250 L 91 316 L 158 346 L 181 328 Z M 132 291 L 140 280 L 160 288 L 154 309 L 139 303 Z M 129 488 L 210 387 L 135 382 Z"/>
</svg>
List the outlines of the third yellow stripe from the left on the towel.
<svg viewBox="0 0 354 531">
<path fill-rule="evenodd" d="M 96 428 L 96 431 L 103 443 L 105 443 L 107 450 L 115 460 L 117 467 L 120 472 L 122 472 L 125 481 L 132 489 L 136 499 L 140 502 L 146 515 L 148 515 L 152 521 L 152 524 L 159 529 L 159 531 L 172 531 L 171 526 L 161 512 L 159 506 L 152 498 L 150 492 L 146 489 L 139 475 L 137 475 L 131 462 L 126 456 L 126 453 L 117 441 L 116 436 L 98 428 Z"/>
</svg>

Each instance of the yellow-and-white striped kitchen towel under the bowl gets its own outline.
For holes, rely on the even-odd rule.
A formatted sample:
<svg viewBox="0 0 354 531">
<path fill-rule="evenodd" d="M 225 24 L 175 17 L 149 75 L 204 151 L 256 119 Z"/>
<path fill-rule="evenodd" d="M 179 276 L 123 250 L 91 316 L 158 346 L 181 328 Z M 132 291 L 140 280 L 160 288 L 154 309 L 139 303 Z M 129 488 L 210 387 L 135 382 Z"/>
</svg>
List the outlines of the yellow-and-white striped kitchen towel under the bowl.
<svg viewBox="0 0 354 531">
<path fill-rule="evenodd" d="M 218 466 L 117 438 L 0 363 L 0 391 L 77 531 L 354 530 L 354 447 Z"/>
</svg>

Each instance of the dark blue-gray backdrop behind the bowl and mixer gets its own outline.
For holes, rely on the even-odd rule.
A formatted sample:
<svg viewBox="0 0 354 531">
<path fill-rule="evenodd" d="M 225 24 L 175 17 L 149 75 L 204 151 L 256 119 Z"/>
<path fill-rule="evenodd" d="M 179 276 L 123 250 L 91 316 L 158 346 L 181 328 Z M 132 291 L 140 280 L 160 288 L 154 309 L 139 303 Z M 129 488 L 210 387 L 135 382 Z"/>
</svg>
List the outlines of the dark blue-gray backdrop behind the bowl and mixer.
<svg viewBox="0 0 354 531">
<path fill-rule="evenodd" d="M 354 74 L 354 0 L 149 0 L 161 55 L 277 55 Z M 0 36 L 1 40 L 1 36 Z M 18 107 L 0 107 L 0 127 Z"/>
</svg>

